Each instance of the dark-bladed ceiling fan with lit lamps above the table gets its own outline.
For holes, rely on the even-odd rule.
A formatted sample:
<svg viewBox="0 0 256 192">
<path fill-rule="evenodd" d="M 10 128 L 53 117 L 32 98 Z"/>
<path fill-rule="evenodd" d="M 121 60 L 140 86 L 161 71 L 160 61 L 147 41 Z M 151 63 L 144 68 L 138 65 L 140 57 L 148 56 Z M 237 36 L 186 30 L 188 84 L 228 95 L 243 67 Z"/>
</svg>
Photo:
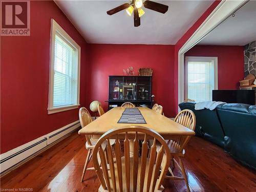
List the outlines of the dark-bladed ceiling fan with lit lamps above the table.
<svg viewBox="0 0 256 192">
<path fill-rule="evenodd" d="M 167 5 L 163 5 L 160 3 L 156 3 L 148 0 L 144 2 L 142 0 L 131 0 L 130 4 L 125 3 L 123 5 L 120 5 L 114 9 L 107 11 L 106 13 L 108 15 L 113 15 L 119 11 L 126 9 L 127 14 L 131 16 L 134 12 L 134 27 L 138 27 L 140 26 L 140 17 L 145 13 L 141 8 L 142 5 L 147 9 L 151 9 L 160 13 L 165 13 L 168 10 Z"/>
</svg>

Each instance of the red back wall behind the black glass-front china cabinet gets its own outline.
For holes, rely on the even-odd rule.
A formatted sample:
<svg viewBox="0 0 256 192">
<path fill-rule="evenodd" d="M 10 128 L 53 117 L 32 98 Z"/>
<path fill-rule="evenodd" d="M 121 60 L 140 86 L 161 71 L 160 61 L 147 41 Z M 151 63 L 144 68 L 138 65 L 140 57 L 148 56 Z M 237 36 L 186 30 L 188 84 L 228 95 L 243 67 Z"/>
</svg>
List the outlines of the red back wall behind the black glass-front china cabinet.
<svg viewBox="0 0 256 192">
<path fill-rule="evenodd" d="M 123 69 L 149 67 L 153 69 L 153 94 L 163 105 L 167 117 L 174 111 L 174 46 L 163 45 L 101 45 L 90 44 L 90 75 L 88 78 L 87 106 L 99 100 L 108 109 L 109 75 L 123 75 Z"/>
</svg>

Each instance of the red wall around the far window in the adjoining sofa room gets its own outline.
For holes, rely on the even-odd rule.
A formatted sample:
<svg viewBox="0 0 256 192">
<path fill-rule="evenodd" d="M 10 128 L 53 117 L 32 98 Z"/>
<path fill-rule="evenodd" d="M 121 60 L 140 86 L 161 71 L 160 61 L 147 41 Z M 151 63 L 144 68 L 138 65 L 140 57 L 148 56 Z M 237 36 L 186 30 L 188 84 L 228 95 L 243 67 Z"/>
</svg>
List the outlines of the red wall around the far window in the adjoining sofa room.
<svg viewBox="0 0 256 192">
<path fill-rule="evenodd" d="M 219 90 L 239 89 L 238 81 L 244 78 L 243 46 L 195 46 L 185 56 L 218 57 Z"/>
</svg>

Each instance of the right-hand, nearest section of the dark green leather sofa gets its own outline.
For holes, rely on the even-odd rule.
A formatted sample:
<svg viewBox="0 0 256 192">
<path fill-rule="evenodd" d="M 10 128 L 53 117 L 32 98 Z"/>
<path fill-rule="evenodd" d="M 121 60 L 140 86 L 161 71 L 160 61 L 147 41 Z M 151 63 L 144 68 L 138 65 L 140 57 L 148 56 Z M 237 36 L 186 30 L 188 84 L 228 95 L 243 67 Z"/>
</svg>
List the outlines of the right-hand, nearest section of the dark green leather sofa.
<svg viewBox="0 0 256 192">
<path fill-rule="evenodd" d="M 217 111 L 225 131 L 225 151 L 256 169 L 256 105 L 228 103 Z"/>
</svg>

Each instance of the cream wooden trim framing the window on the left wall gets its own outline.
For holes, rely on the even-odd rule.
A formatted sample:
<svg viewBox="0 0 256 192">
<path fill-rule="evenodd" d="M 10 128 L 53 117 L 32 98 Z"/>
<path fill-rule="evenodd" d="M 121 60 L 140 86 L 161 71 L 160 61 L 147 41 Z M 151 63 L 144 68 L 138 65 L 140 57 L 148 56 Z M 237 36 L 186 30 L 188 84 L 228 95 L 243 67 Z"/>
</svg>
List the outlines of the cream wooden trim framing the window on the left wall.
<svg viewBox="0 0 256 192">
<path fill-rule="evenodd" d="M 73 105 L 65 105 L 53 107 L 53 84 L 54 84 L 54 56 L 55 56 L 55 34 L 61 36 L 65 39 L 73 48 L 76 50 L 76 56 L 78 57 L 77 63 L 77 103 Z M 77 109 L 80 105 L 80 58 L 81 57 L 81 48 L 80 46 L 63 30 L 57 22 L 52 18 L 51 19 L 51 35 L 50 35 L 50 72 L 49 72 L 49 96 L 48 96 L 48 114 L 58 113 L 62 111 L 68 111 L 72 109 Z"/>
</svg>

